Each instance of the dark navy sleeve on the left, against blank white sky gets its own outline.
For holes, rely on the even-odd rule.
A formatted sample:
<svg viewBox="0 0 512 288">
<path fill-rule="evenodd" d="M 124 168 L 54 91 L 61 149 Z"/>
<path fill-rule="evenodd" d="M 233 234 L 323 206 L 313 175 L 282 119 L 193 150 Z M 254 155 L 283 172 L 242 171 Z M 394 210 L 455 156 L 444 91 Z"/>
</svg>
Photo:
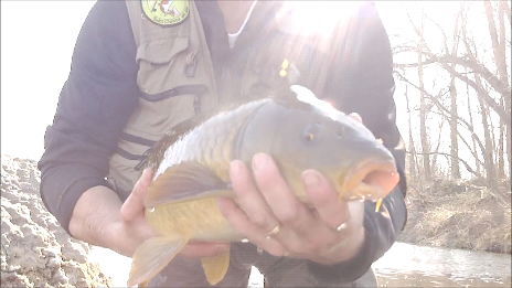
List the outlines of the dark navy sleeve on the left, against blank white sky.
<svg viewBox="0 0 512 288">
<path fill-rule="evenodd" d="M 39 161 L 41 198 L 67 232 L 79 196 L 107 185 L 109 156 L 138 103 L 137 71 L 125 1 L 98 1 L 78 35 Z"/>
</svg>

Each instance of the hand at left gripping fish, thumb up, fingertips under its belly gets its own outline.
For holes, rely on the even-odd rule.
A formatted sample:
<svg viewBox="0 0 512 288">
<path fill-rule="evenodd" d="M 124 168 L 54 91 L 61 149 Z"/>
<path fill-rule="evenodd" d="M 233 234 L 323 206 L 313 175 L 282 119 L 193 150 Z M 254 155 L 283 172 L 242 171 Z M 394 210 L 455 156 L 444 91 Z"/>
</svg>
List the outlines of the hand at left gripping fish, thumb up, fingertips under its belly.
<svg viewBox="0 0 512 288">
<path fill-rule="evenodd" d="M 134 186 L 131 194 L 120 209 L 121 223 L 119 230 L 124 233 L 117 236 L 118 253 L 131 257 L 137 247 L 145 241 L 159 236 L 158 233 L 148 224 L 145 217 L 143 199 L 151 183 L 152 170 L 146 169 L 139 181 Z M 230 249 L 230 244 L 220 243 L 189 243 L 180 254 L 189 257 L 210 257 Z"/>
</svg>

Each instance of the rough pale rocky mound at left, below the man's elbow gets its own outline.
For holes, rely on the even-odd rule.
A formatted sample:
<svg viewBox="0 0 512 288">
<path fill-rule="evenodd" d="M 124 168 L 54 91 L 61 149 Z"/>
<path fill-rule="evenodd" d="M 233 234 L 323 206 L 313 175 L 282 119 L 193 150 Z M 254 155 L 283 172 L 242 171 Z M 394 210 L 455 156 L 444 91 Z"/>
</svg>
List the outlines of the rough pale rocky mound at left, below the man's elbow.
<svg viewBox="0 0 512 288">
<path fill-rule="evenodd" d="M 111 279 L 47 212 L 40 172 L 29 159 L 1 156 L 1 287 L 108 287 Z"/>
</svg>

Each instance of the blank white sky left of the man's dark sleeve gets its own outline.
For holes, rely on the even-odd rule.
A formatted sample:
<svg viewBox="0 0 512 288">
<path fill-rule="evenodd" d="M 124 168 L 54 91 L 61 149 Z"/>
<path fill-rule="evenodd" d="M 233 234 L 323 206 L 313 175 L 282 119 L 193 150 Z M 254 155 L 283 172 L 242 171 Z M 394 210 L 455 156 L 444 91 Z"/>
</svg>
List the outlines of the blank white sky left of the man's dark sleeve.
<svg viewBox="0 0 512 288">
<path fill-rule="evenodd" d="M 1 152 L 38 160 L 95 1 L 1 1 Z"/>
</svg>

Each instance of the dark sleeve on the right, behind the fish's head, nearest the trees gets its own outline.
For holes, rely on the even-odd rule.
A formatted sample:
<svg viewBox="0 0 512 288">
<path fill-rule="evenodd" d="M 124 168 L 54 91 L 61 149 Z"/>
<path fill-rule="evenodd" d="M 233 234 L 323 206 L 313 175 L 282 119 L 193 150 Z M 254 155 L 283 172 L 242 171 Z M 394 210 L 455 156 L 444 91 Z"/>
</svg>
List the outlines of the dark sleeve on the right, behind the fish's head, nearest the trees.
<svg viewBox="0 0 512 288">
<path fill-rule="evenodd" d="M 313 276 L 328 282 L 351 282 L 363 276 L 390 249 L 407 217 L 405 152 L 396 127 L 390 40 L 373 2 L 363 3 L 349 25 L 342 63 L 331 67 L 331 75 L 338 78 L 331 81 L 330 94 L 337 95 L 337 106 L 360 114 L 363 124 L 383 140 L 395 157 L 401 183 L 383 200 L 380 213 L 375 213 L 375 203 L 365 203 L 365 242 L 358 256 L 334 266 L 308 264 Z"/>
</svg>

